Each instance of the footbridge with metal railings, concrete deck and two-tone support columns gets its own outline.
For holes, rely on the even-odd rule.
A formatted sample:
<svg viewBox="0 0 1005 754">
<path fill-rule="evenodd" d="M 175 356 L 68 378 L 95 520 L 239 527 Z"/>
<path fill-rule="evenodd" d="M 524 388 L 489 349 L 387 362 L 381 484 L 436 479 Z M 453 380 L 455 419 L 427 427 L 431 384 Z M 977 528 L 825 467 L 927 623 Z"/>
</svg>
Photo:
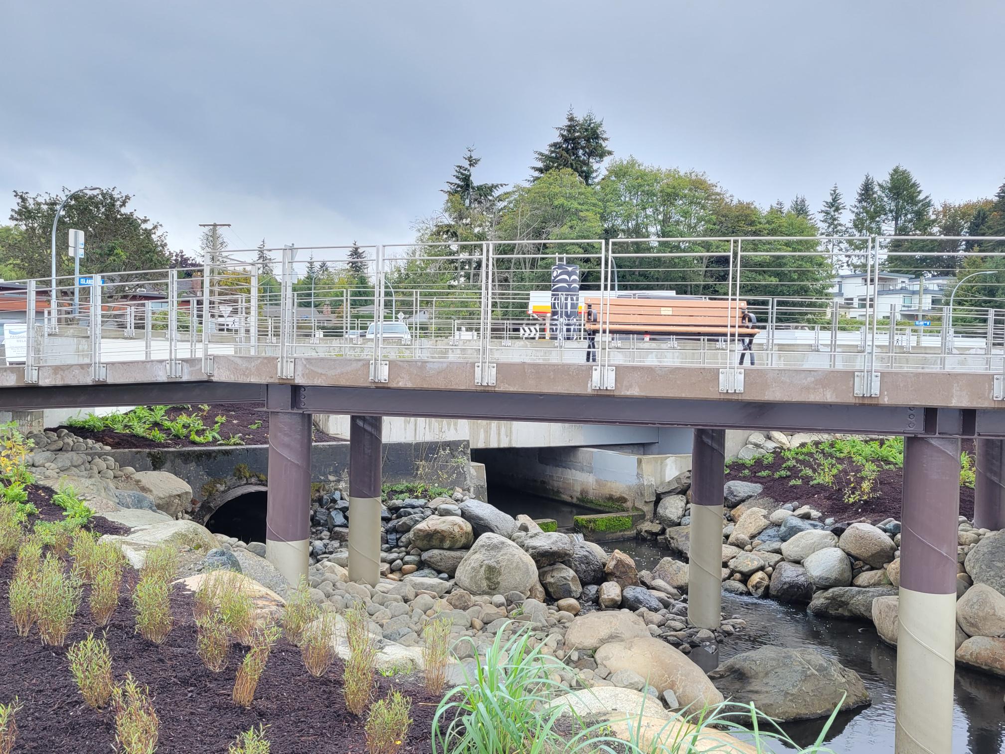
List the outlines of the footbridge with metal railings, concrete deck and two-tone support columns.
<svg viewBox="0 0 1005 754">
<path fill-rule="evenodd" d="M 283 248 L 275 272 L 235 253 L 76 291 L 73 278 L 25 280 L 0 294 L 27 326 L 23 340 L 7 330 L 0 409 L 263 401 L 266 549 L 291 581 L 308 567 L 311 416 L 351 415 L 350 573 L 371 584 L 382 416 L 690 427 L 688 611 L 708 628 L 720 620 L 725 429 L 903 435 L 897 751 L 949 751 L 960 440 L 977 439 L 975 526 L 1005 528 L 1005 309 L 998 284 L 962 276 L 945 297 L 926 298 L 925 277 L 916 301 L 881 294 L 903 259 L 964 240 L 390 244 L 359 247 L 362 259 Z M 592 338 L 582 312 L 542 319 L 530 306 L 559 263 L 575 263 L 599 302 Z M 833 282 L 842 268 L 863 292 L 850 304 Z M 610 327 L 611 300 L 669 291 L 725 303 L 732 324 L 672 337 Z M 761 331 L 746 354 L 744 307 Z"/>
</svg>

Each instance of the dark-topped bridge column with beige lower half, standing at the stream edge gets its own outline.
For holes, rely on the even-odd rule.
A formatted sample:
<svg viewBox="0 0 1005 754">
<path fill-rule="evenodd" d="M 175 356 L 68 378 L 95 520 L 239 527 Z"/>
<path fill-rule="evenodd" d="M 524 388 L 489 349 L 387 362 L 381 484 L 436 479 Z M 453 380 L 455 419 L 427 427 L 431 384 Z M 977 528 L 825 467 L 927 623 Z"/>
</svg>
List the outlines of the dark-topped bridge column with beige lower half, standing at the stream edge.
<svg viewBox="0 0 1005 754">
<path fill-rule="evenodd" d="M 719 628 L 722 620 L 725 445 L 725 429 L 694 430 L 687 617 L 710 630 Z"/>
</svg>

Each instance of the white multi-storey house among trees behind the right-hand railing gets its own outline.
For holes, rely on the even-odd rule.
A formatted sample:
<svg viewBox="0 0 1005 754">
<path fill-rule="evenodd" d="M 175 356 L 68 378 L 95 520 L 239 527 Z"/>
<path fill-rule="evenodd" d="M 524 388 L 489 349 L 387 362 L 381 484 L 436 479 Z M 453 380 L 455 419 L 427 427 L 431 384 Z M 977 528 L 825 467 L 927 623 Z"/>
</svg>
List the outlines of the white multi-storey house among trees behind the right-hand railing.
<svg viewBox="0 0 1005 754">
<path fill-rule="evenodd" d="M 888 318 L 893 313 L 896 319 L 911 320 L 939 314 L 939 308 L 949 303 L 948 294 L 955 282 L 953 275 L 918 277 L 902 272 L 879 272 L 873 302 L 869 295 L 871 281 L 865 272 L 846 272 L 834 278 L 831 295 L 842 317 L 863 320 L 866 312 L 874 308 L 879 318 Z"/>
</svg>

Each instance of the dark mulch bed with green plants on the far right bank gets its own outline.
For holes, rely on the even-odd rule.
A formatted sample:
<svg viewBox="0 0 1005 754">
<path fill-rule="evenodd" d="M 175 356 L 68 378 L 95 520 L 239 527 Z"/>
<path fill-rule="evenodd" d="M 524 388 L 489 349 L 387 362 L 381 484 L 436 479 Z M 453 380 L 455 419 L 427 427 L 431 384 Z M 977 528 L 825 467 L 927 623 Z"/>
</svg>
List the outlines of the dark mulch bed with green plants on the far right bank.
<svg viewBox="0 0 1005 754">
<path fill-rule="evenodd" d="M 973 441 L 964 441 L 963 449 L 973 454 Z M 842 466 L 851 463 L 850 458 L 834 458 Z M 781 452 L 774 453 L 774 460 L 765 463 L 756 459 L 754 464 L 749 466 L 750 475 L 743 477 L 741 472 L 745 466 L 733 463 L 730 473 L 726 475 L 726 481 L 737 480 L 741 482 L 753 482 L 764 486 L 763 495 L 771 498 L 777 503 L 799 503 L 808 505 L 820 511 L 824 516 L 833 516 L 838 521 L 867 521 L 877 524 L 884 519 L 896 519 L 900 521 L 901 494 L 903 492 L 903 469 L 902 468 L 882 468 L 879 470 L 878 495 L 871 500 L 849 505 L 844 502 L 845 480 L 847 475 L 838 473 L 834 487 L 827 488 L 823 485 L 811 486 L 810 479 L 798 477 L 798 467 L 786 470 L 792 474 L 791 477 L 775 479 L 772 476 L 758 477 L 758 472 L 768 470 L 772 474 L 782 470 L 785 458 Z M 801 461 L 796 461 L 800 463 Z M 805 461 L 803 461 L 805 462 Z M 801 486 L 792 486 L 789 483 L 799 479 Z M 969 487 L 960 487 L 960 515 L 968 519 L 974 518 L 974 490 Z"/>
</svg>

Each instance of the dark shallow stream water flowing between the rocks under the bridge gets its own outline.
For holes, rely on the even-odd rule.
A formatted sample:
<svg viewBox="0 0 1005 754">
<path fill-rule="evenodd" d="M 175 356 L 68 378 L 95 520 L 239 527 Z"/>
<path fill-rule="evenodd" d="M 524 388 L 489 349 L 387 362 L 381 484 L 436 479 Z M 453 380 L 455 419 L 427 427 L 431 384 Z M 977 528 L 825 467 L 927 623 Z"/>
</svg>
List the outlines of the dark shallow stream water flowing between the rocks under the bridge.
<svg viewBox="0 0 1005 754">
<path fill-rule="evenodd" d="M 505 489 L 493 489 L 492 505 L 511 514 L 554 518 L 560 526 L 572 524 L 577 506 Z M 651 569 L 668 552 L 635 540 L 608 543 L 635 559 L 639 570 Z M 810 647 L 855 671 L 865 684 L 872 705 L 839 716 L 826 738 L 839 754 L 893 751 L 896 651 L 883 643 L 870 623 L 817 618 L 805 608 L 774 600 L 723 595 L 723 611 L 747 621 L 747 628 L 724 642 L 721 659 L 759 646 Z M 692 657 L 700 659 L 692 653 Z M 715 665 L 715 657 L 708 657 Z M 706 667 L 706 662 L 700 662 Z M 954 709 L 954 754 L 1000 754 L 1005 751 L 1005 679 L 958 670 Z M 820 721 L 790 724 L 786 733 L 800 746 L 816 740 Z M 777 751 L 792 751 L 781 746 Z M 947 752 L 947 754 L 949 754 Z"/>
</svg>

